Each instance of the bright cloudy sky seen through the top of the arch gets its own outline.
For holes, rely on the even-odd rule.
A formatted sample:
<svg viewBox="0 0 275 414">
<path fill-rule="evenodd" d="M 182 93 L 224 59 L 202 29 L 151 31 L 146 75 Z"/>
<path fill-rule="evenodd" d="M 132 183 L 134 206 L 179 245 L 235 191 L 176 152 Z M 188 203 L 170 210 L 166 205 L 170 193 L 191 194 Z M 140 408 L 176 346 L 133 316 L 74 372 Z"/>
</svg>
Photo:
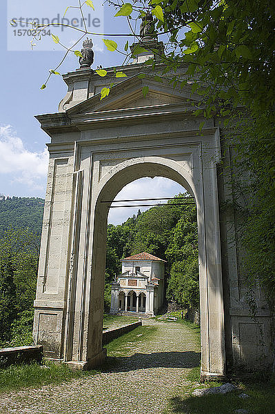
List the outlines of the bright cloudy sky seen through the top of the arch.
<svg viewBox="0 0 275 414">
<path fill-rule="evenodd" d="M 179 193 L 184 193 L 185 189 L 175 181 L 164 177 L 141 178 L 132 181 L 132 183 L 125 186 L 114 198 L 117 199 L 144 199 L 144 198 L 158 198 L 158 197 L 174 197 Z M 122 202 L 114 203 L 113 206 L 129 205 L 129 204 L 157 204 L 159 201 L 136 201 L 136 202 Z M 163 201 L 165 202 L 165 200 Z M 150 208 L 150 207 L 149 207 Z M 121 224 L 126 221 L 128 217 L 136 215 L 138 210 L 145 211 L 147 207 L 130 207 L 130 208 L 110 208 L 108 215 L 108 223 Z"/>
</svg>

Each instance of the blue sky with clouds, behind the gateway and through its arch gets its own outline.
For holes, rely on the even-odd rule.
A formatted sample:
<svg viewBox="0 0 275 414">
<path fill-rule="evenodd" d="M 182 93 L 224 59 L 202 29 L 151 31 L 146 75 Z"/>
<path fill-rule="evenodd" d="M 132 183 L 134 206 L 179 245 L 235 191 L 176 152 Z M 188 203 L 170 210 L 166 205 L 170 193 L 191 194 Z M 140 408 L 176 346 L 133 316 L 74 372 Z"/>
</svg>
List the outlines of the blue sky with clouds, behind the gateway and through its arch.
<svg viewBox="0 0 275 414">
<path fill-rule="evenodd" d="M 129 28 L 123 17 L 114 19 L 115 10 L 101 6 L 101 1 L 94 1 L 95 11 L 88 6 L 87 14 L 91 14 L 97 28 L 95 32 L 128 33 Z M 48 76 L 48 70 L 55 68 L 63 57 L 63 52 L 57 50 L 57 45 L 51 37 L 45 36 L 41 43 L 37 42 L 35 50 L 30 48 L 31 37 L 19 37 L 19 26 L 12 28 L 8 19 L 17 17 L 57 18 L 63 17 L 66 6 L 77 5 L 77 0 L 2 0 L 0 3 L 0 193 L 18 197 L 45 197 L 45 181 L 48 168 L 48 152 L 45 143 L 50 137 L 40 129 L 34 115 L 57 112 L 59 101 L 65 96 L 66 86 L 59 75 L 52 76 L 47 88 L 40 87 Z M 78 10 L 70 9 L 65 17 L 80 25 Z M 12 17 L 10 17 L 12 16 Z M 100 26 L 99 26 L 100 21 Z M 16 30 L 14 32 L 14 30 Z M 53 29 L 51 29 L 54 32 Z M 54 34 L 67 45 L 76 41 L 76 32 L 61 32 L 57 29 Z M 94 65 L 115 66 L 122 63 L 122 55 L 109 52 L 103 45 L 101 37 L 92 36 L 94 42 Z M 125 38 L 115 38 L 121 45 Z M 129 43 L 132 43 L 130 39 Z M 79 49 L 81 46 L 79 46 Z M 77 57 L 70 55 L 60 68 L 61 73 L 71 72 L 77 68 Z M 183 191 L 179 184 L 156 177 L 141 179 L 129 184 L 119 195 L 119 198 L 172 197 Z M 135 208 L 114 208 L 109 215 L 109 221 L 118 224 L 127 217 L 136 214 Z"/>
</svg>

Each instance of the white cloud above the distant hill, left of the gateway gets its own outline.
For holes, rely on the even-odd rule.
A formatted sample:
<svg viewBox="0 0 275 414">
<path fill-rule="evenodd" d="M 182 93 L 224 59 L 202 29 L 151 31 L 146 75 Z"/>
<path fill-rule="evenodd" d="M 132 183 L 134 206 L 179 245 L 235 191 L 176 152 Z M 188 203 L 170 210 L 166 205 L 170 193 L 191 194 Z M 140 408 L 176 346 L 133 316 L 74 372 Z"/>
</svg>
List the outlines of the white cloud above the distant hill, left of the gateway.
<svg viewBox="0 0 275 414">
<path fill-rule="evenodd" d="M 10 125 L 0 126 L 0 175 L 8 183 L 28 190 L 43 190 L 48 170 L 48 150 L 31 152 Z"/>
</svg>

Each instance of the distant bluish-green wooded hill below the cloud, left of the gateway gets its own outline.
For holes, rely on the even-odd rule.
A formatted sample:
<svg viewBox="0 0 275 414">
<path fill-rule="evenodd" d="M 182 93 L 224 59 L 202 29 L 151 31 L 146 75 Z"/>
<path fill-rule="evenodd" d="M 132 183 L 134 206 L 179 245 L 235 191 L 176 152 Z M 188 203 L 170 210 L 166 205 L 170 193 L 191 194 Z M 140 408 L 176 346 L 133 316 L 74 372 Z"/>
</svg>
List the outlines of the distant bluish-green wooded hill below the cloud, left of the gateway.
<svg viewBox="0 0 275 414">
<path fill-rule="evenodd" d="M 0 235 L 8 228 L 29 228 L 41 235 L 45 200 L 0 196 Z"/>
</svg>

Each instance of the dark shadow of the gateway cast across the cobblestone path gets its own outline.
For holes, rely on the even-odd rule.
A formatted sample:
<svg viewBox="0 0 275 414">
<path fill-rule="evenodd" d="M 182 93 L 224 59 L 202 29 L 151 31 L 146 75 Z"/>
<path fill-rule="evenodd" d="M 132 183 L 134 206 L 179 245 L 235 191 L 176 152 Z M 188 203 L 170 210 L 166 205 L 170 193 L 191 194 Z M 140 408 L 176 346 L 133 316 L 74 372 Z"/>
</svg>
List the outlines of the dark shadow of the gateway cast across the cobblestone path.
<svg viewBox="0 0 275 414">
<path fill-rule="evenodd" d="M 130 357 L 108 357 L 102 372 L 127 372 L 143 368 L 194 368 L 200 364 L 201 353 L 156 352 L 150 354 L 135 353 Z"/>
</svg>

